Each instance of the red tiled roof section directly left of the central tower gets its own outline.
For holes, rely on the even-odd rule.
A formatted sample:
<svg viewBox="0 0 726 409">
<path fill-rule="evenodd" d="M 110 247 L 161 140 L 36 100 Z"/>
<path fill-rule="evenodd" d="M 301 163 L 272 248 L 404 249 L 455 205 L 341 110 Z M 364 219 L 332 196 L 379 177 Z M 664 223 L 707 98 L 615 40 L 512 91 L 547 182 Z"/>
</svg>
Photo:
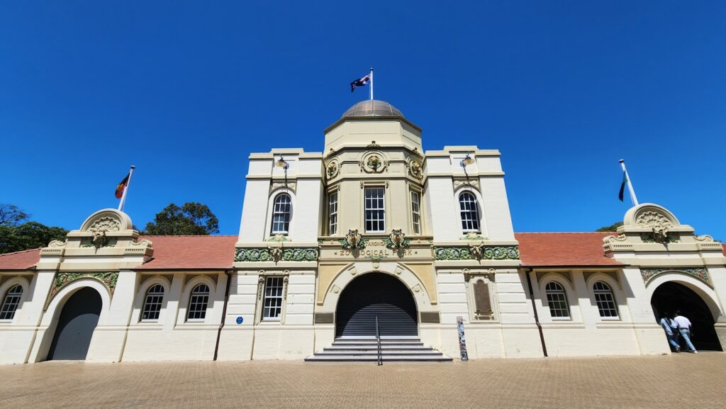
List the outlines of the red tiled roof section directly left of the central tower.
<svg viewBox="0 0 726 409">
<path fill-rule="evenodd" d="M 154 248 L 152 259 L 136 270 L 227 269 L 234 261 L 236 235 L 142 236 Z"/>
</svg>

